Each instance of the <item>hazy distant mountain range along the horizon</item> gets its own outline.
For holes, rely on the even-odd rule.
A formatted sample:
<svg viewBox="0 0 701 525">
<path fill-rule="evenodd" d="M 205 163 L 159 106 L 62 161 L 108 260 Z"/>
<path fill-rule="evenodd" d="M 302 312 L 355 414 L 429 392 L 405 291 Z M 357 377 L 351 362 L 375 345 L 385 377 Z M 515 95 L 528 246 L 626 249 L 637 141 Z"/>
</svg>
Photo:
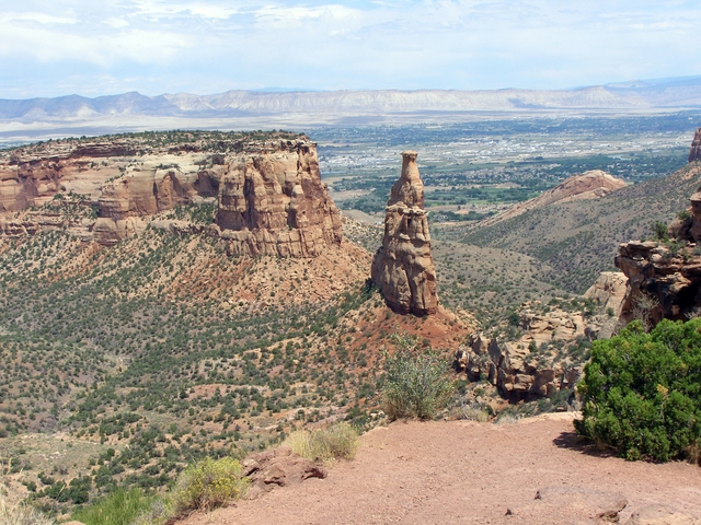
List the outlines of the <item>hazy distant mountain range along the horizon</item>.
<svg viewBox="0 0 701 525">
<path fill-rule="evenodd" d="M 701 107 L 701 77 L 635 81 L 572 90 L 228 91 L 146 96 L 140 93 L 0 100 L 0 119 L 36 122 L 103 116 L 227 118 L 273 115 L 393 115 L 426 112 L 654 109 Z"/>
</svg>

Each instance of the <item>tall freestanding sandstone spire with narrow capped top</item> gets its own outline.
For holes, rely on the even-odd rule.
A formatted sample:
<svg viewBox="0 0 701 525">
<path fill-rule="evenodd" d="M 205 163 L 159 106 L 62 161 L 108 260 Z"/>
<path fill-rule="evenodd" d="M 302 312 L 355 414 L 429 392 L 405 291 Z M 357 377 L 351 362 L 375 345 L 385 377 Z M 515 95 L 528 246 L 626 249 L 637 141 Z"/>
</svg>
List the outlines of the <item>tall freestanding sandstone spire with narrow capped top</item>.
<svg viewBox="0 0 701 525">
<path fill-rule="evenodd" d="M 416 152 L 405 151 L 402 158 L 402 175 L 387 202 L 382 247 L 372 261 L 372 281 L 395 312 L 435 314 L 436 267 L 424 210 L 424 184 Z"/>
</svg>

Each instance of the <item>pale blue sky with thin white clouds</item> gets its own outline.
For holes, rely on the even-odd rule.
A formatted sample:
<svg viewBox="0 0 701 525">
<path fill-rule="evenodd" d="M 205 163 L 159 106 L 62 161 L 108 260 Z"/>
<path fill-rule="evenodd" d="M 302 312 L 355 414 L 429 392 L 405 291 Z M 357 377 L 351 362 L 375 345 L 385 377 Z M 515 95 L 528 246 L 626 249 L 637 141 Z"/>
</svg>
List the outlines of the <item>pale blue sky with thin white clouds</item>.
<svg viewBox="0 0 701 525">
<path fill-rule="evenodd" d="M 0 98 L 701 74 L 701 0 L 0 0 Z"/>
</svg>

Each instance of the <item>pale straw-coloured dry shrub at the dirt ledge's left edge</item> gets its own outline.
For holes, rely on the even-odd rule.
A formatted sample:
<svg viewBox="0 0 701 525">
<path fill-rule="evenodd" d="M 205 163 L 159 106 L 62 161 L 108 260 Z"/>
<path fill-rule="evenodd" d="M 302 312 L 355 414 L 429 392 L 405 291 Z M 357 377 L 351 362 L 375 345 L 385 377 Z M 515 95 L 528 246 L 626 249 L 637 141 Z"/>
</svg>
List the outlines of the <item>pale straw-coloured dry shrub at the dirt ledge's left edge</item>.
<svg viewBox="0 0 701 525">
<path fill-rule="evenodd" d="M 322 430 L 298 430 L 283 445 L 302 457 L 330 464 L 334 459 L 353 459 L 359 445 L 358 431 L 343 422 Z"/>
</svg>

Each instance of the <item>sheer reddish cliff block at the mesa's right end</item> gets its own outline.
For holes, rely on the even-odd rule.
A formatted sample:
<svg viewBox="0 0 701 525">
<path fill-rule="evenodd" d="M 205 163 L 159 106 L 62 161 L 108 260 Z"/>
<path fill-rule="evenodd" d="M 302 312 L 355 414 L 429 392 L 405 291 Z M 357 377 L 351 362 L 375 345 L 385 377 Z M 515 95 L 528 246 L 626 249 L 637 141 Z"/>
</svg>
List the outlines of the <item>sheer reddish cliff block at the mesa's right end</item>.
<svg viewBox="0 0 701 525">
<path fill-rule="evenodd" d="M 216 222 L 229 254 L 315 257 L 342 240 L 341 215 L 309 141 L 229 159 Z"/>
</svg>

